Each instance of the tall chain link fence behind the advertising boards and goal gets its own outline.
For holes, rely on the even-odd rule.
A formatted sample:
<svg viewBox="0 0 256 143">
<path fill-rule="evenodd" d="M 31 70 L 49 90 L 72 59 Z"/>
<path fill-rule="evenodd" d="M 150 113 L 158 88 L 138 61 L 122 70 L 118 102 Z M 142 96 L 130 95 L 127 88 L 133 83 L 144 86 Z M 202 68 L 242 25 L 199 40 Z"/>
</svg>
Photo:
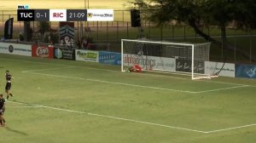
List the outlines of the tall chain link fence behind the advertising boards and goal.
<svg viewBox="0 0 256 143">
<path fill-rule="evenodd" d="M 195 33 L 193 28 L 185 25 L 156 26 L 153 23 L 143 21 L 143 27 L 131 27 L 129 10 L 115 10 L 113 21 L 75 22 L 75 39 L 90 38 L 91 46 L 94 49 L 103 49 L 113 52 L 120 52 L 121 39 L 137 39 L 140 37 L 154 41 L 171 41 L 180 43 L 204 43 L 206 39 Z M 19 39 L 20 33 L 24 32 L 24 22 L 17 21 L 16 11 L 0 11 L 0 35 L 3 37 L 4 22 L 14 17 L 14 38 Z M 50 33 L 55 33 L 58 40 L 58 22 L 49 22 Z M 31 28 L 33 37 L 38 31 L 38 22 L 32 21 Z M 217 26 L 201 28 L 209 36 L 221 41 L 220 29 Z M 47 33 L 46 33 L 47 34 Z M 46 41 L 44 41 L 46 39 Z M 47 41 L 47 37 L 40 36 L 40 41 Z M 32 39 L 31 39 L 32 41 Z M 223 46 L 211 46 L 211 60 L 232 62 L 232 63 L 256 63 L 256 31 L 241 31 L 227 26 L 227 41 L 233 45 L 233 49 L 224 49 Z M 57 44 L 58 41 L 55 42 Z M 79 46 L 77 46 L 79 48 Z M 242 53 L 246 53 L 242 54 Z"/>
</svg>

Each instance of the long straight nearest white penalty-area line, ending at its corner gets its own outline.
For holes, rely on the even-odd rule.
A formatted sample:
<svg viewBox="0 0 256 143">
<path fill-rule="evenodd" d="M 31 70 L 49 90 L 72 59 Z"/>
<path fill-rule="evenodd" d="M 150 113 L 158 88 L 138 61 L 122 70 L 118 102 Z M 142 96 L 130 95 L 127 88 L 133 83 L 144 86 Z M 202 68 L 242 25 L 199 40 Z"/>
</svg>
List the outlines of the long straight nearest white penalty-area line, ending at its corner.
<svg viewBox="0 0 256 143">
<path fill-rule="evenodd" d="M 20 102 L 15 102 L 15 101 L 8 101 L 8 102 L 20 104 Z M 26 105 L 26 103 L 23 103 L 23 104 Z M 31 104 L 29 104 L 29 105 L 31 105 Z M 120 121 L 127 121 L 127 122 L 132 122 L 132 123 L 143 123 L 143 124 L 148 124 L 148 125 L 153 125 L 153 126 L 165 127 L 165 128 L 169 128 L 169 129 L 179 129 L 179 130 L 185 130 L 185 131 L 196 132 L 196 133 L 204 133 L 204 134 L 207 133 L 207 132 L 204 132 L 201 130 L 196 130 L 196 129 L 186 129 L 186 128 L 169 126 L 169 125 L 160 124 L 160 123 L 149 123 L 149 122 L 144 122 L 144 121 L 139 121 L 139 120 L 134 120 L 134 119 L 129 119 L 129 118 L 123 118 L 123 117 L 113 117 L 113 116 L 101 115 L 101 114 L 90 113 L 90 112 L 79 112 L 79 111 L 74 111 L 74 110 L 69 110 L 69 109 L 62 109 L 62 108 L 43 106 L 43 105 L 34 105 L 34 106 L 44 107 L 44 108 L 61 111 L 61 112 L 73 112 L 73 113 L 79 113 L 79 114 L 86 114 L 86 115 L 90 115 L 90 116 L 105 117 L 105 118 L 110 118 L 110 119 L 115 119 L 115 120 L 120 120 Z"/>
</svg>

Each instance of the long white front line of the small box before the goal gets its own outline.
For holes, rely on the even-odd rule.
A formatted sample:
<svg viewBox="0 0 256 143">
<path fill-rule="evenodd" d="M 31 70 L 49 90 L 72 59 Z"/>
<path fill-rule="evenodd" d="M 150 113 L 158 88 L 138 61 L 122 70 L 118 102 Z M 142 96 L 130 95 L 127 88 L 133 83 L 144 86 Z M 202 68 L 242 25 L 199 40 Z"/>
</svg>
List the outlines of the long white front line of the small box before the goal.
<svg viewBox="0 0 256 143">
<path fill-rule="evenodd" d="M 143 85 L 130 84 L 130 83 L 116 83 L 116 82 L 108 82 L 108 81 L 97 80 L 97 79 L 89 79 L 89 78 L 86 79 L 86 78 L 81 78 L 81 77 L 58 76 L 58 75 L 51 75 L 51 74 L 37 73 L 37 72 L 24 72 L 24 73 L 30 73 L 30 74 L 36 74 L 36 75 L 44 75 L 44 76 L 49 76 L 49 77 L 61 77 L 61 78 L 79 79 L 79 80 L 86 80 L 86 81 L 99 82 L 99 83 L 112 83 L 112 84 L 132 86 L 132 87 L 145 88 L 145 89 L 159 89 L 159 90 L 176 91 L 176 92 L 183 92 L 183 93 L 189 93 L 189 94 L 195 94 L 196 93 L 196 92 L 186 91 L 186 90 L 164 89 L 164 88 L 157 88 L 157 87 L 151 87 L 151 86 L 143 86 Z"/>
</svg>

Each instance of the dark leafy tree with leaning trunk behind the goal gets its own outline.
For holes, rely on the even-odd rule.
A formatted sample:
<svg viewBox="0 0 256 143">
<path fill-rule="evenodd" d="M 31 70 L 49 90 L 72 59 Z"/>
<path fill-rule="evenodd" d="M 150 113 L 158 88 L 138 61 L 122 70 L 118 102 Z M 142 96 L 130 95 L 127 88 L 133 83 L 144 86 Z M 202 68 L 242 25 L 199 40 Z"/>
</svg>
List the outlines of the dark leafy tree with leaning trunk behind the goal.
<svg viewBox="0 0 256 143">
<path fill-rule="evenodd" d="M 175 20 L 191 26 L 195 32 L 219 47 L 234 49 L 227 43 L 226 26 L 234 23 L 236 28 L 252 30 L 256 28 L 255 0 L 145 0 L 149 20 L 159 24 Z M 210 37 L 201 30 L 201 26 L 218 26 L 221 30 L 221 41 Z M 249 57 L 245 51 L 241 54 Z"/>
</svg>

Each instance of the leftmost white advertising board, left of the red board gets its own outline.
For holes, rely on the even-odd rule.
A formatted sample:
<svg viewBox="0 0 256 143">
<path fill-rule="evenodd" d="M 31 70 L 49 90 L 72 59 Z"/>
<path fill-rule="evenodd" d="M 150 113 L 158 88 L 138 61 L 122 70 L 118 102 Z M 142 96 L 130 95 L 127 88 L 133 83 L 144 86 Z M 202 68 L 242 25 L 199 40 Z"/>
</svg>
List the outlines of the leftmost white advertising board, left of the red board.
<svg viewBox="0 0 256 143">
<path fill-rule="evenodd" d="M 32 56 L 32 46 L 18 43 L 0 43 L 0 53 Z"/>
</svg>

